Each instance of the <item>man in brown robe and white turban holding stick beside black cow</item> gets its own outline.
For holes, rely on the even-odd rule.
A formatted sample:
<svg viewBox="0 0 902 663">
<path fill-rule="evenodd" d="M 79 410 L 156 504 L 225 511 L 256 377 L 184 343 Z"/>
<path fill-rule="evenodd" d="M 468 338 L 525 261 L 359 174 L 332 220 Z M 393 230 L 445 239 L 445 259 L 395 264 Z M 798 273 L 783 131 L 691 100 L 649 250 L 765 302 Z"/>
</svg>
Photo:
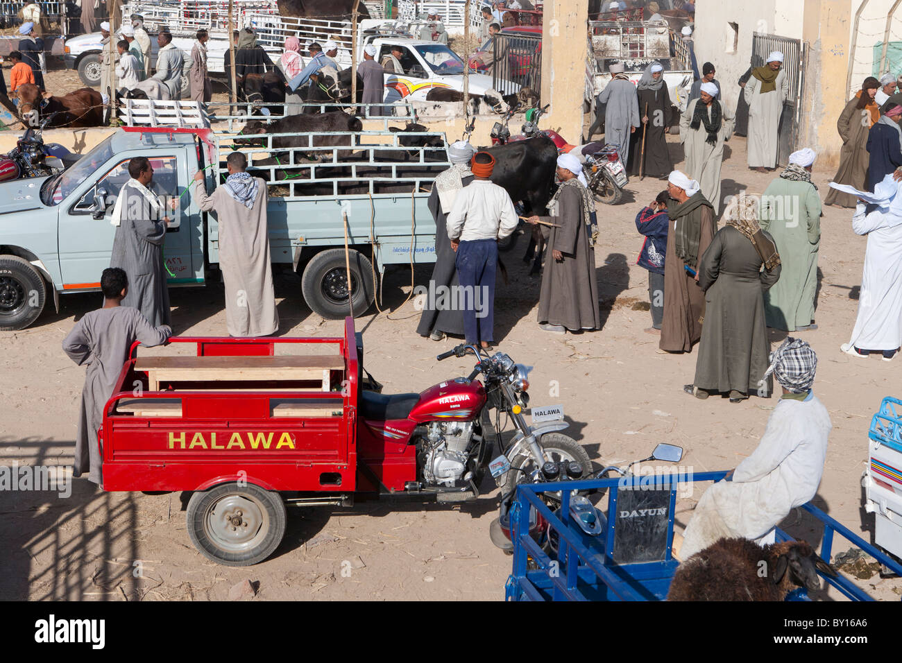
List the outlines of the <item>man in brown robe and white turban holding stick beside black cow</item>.
<svg viewBox="0 0 902 663">
<path fill-rule="evenodd" d="M 530 216 L 529 223 L 543 221 L 550 255 L 542 272 L 538 295 L 538 326 L 563 334 L 602 326 L 598 310 L 595 250 L 598 227 L 594 226 L 592 196 L 579 181 L 583 166 L 573 154 L 557 157 L 560 186 L 548 203 L 549 216 Z"/>
</svg>

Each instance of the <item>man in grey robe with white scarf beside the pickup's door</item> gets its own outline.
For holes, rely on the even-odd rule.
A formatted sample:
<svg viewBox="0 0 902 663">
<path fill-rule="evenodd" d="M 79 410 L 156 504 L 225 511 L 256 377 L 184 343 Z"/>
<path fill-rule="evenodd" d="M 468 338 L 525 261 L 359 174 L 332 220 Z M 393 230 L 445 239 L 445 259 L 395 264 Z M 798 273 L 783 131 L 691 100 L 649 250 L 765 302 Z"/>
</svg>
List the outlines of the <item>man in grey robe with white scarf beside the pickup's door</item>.
<svg viewBox="0 0 902 663">
<path fill-rule="evenodd" d="M 163 265 L 163 241 L 168 216 L 162 216 L 159 200 L 147 189 L 153 169 L 146 157 L 128 162 L 131 180 L 125 182 L 113 209 L 113 254 L 110 267 L 121 267 L 131 281 L 123 306 L 141 311 L 157 327 L 170 324 L 169 290 Z"/>
</svg>

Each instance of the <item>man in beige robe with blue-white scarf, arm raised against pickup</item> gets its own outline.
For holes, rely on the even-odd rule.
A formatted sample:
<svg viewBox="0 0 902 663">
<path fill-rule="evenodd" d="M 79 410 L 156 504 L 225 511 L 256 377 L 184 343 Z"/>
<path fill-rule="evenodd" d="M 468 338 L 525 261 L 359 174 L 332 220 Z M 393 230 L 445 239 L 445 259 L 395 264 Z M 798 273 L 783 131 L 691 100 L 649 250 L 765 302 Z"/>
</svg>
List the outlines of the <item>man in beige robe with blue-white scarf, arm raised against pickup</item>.
<svg viewBox="0 0 902 663">
<path fill-rule="evenodd" d="M 204 212 L 216 212 L 219 268 L 226 285 L 229 336 L 270 336 L 279 329 L 272 287 L 270 238 L 266 225 L 266 182 L 244 172 L 247 157 L 226 159 L 226 183 L 207 196 L 203 170 L 194 176 L 194 198 Z"/>
</svg>

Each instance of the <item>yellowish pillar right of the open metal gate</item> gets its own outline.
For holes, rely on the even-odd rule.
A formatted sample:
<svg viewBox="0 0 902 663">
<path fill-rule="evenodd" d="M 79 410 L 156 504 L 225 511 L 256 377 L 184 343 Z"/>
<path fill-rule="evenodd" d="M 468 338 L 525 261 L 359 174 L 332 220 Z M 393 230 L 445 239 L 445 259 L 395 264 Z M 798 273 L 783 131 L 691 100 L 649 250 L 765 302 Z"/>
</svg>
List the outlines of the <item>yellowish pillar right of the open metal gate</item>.
<svg viewBox="0 0 902 663">
<path fill-rule="evenodd" d="M 846 71 L 852 57 L 851 18 L 848 2 L 805 0 L 802 39 L 809 48 L 800 147 L 815 149 L 821 165 L 839 164 L 842 140 L 836 132 L 836 120 L 851 98 L 846 90 Z M 861 87 L 861 80 L 852 83 Z"/>
</svg>

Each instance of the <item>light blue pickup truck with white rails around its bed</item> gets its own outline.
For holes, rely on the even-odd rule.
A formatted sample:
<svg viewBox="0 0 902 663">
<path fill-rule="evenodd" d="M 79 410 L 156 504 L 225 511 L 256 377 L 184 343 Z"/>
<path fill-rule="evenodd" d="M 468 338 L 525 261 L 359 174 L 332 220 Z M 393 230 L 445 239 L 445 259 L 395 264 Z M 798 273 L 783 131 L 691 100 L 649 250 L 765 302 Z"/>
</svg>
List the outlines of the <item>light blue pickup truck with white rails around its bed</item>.
<svg viewBox="0 0 902 663">
<path fill-rule="evenodd" d="M 254 174 L 269 186 L 272 261 L 301 274 L 300 294 L 312 310 L 324 318 L 347 315 L 345 217 L 356 315 L 372 305 L 375 274 L 386 264 L 435 262 L 427 198 L 449 166 L 445 147 L 410 147 L 412 134 L 380 130 L 346 134 L 353 152 L 314 146 L 328 135 L 322 133 L 290 134 L 302 150 L 273 150 L 273 135 L 289 134 L 238 148 L 268 157 L 266 165 L 254 161 Z M 408 136 L 407 146 L 400 135 Z M 151 160 L 154 192 L 176 201 L 163 247 L 170 287 L 197 286 L 216 274 L 216 216 L 202 213 L 188 188 L 201 169 L 207 191 L 223 181 L 234 140 L 210 129 L 124 127 L 59 175 L 0 184 L 0 330 L 31 325 L 49 293 L 59 310 L 60 293 L 99 290 L 115 235 L 115 197 L 136 156 Z"/>
</svg>

